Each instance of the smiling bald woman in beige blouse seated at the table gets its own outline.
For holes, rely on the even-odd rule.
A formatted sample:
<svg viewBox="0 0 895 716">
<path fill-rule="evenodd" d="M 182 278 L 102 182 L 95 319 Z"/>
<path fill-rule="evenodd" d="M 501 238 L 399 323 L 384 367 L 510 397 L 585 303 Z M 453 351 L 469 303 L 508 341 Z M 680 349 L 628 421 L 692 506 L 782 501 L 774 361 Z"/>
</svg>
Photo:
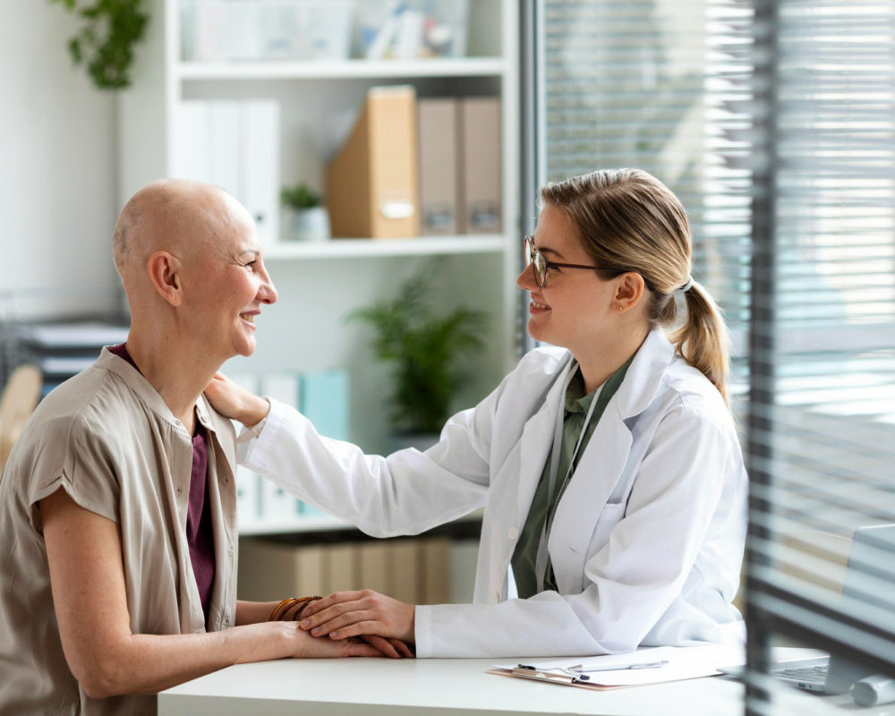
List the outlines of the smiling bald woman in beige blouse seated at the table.
<svg viewBox="0 0 895 716">
<path fill-rule="evenodd" d="M 379 655 L 298 629 L 301 603 L 236 601 L 234 432 L 202 389 L 277 300 L 251 217 L 152 183 L 114 259 L 127 342 L 44 399 L 0 480 L 0 712 L 154 714 L 230 664 Z"/>
</svg>

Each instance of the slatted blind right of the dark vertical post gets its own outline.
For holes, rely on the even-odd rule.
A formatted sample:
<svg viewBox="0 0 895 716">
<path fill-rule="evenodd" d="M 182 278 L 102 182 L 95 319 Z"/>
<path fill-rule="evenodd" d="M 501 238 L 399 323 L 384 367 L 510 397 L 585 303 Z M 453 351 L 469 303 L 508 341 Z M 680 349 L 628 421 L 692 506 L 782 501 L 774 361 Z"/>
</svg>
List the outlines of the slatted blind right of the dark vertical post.
<svg viewBox="0 0 895 716">
<path fill-rule="evenodd" d="M 774 260 L 752 326 L 768 347 L 750 405 L 749 599 L 763 623 L 892 671 L 895 542 L 846 564 L 857 527 L 895 522 L 895 6 L 763 7 L 774 200 L 756 241 Z"/>
</svg>

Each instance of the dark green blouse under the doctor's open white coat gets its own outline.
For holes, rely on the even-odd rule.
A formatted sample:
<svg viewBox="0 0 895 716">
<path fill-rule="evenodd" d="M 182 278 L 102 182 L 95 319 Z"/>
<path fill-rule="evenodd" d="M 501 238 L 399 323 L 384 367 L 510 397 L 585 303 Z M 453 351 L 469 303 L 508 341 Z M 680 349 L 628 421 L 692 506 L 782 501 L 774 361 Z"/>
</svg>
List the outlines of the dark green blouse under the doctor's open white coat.
<svg viewBox="0 0 895 716">
<path fill-rule="evenodd" d="M 615 395 L 618 386 L 625 379 L 627 367 L 634 360 L 633 357 L 628 360 L 618 371 L 606 379 L 606 382 L 592 393 L 584 394 L 584 378 L 581 370 L 576 369 L 575 375 L 569 381 L 566 388 L 566 408 L 562 426 L 562 443 L 559 446 L 559 465 L 557 476 L 557 489 L 553 490 L 553 499 L 548 504 L 548 491 L 550 485 L 550 461 L 553 457 L 553 450 L 556 446 L 550 448 L 547 456 L 547 462 L 544 464 L 541 473 L 541 482 L 538 482 L 538 489 L 534 492 L 532 499 L 532 507 L 528 509 L 528 516 L 525 518 L 525 524 L 522 533 L 519 535 L 519 541 L 516 543 L 516 551 L 513 553 L 511 564 L 513 566 L 513 575 L 516 578 L 516 591 L 522 599 L 527 599 L 538 592 L 538 575 L 535 564 L 538 559 L 538 545 L 541 542 L 541 531 L 544 524 L 548 526 L 548 534 L 550 533 L 550 524 L 553 522 L 553 513 L 562 498 L 563 492 L 566 491 L 568 481 L 572 479 L 572 473 L 578 461 L 584 454 L 584 448 L 587 447 L 588 441 L 591 439 L 593 430 L 596 429 L 597 423 L 600 422 L 601 415 L 609 404 L 609 400 Z M 591 422 L 584 425 L 587 417 L 587 411 L 591 407 L 592 401 L 596 400 L 597 404 L 593 406 L 593 414 Z M 572 456 L 575 453 L 575 444 L 578 436 L 584 430 L 584 438 L 581 441 L 581 448 L 575 456 L 575 464 L 569 469 Z M 565 479 L 563 476 L 565 475 Z M 544 589 L 547 591 L 557 591 L 556 577 L 553 575 L 553 565 L 550 564 L 550 558 L 547 561 L 547 574 L 544 576 Z"/>
</svg>

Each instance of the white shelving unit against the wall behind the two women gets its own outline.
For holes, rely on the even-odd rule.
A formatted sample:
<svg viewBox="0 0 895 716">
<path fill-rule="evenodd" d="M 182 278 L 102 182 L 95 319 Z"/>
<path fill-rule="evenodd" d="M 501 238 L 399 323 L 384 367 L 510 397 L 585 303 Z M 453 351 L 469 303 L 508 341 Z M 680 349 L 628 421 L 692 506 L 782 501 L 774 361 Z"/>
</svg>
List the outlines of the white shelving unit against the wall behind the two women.
<svg viewBox="0 0 895 716">
<path fill-rule="evenodd" d="M 435 288 L 439 303 L 446 308 L 464 303 L 490 312 L 488 347 L 470 371 L 464 405 L 484 396 L 516 360 L 520 242 L 515 0 L 470 0 L 467 54 L 471 56 L 467 57 L 208 63 L 181 58 L 179 2 L 146 0 L 148 35 L 137 50 L 132 88 L 118 100 L 119 204 L 145 183 L 172 174 L 174 118 L 185 100 L 277 99 L 280 185 L 303 181 L 322 189 L 325 167 L 371 87 L 413 84 L 419 97 L 501 98 L 502 234 L 269 244 L 266 261 L 277 285 L 278 303 L 260 317 L 256 354 L 225 367 L 259 375 L 344 368 L 352 386 L 351 438 L 368 451 L 379 450 L 387 431 L 382 399 L 388 376 L 371 360 L 369 334 L 346 323 L 345 314 L 391 294 L 426 257 L 444 255 L 444 280 Z M 327 529 L 328 525 L 305 526 Z M 252 527 L 253 532 L 258 529 Z"/>
</svg>

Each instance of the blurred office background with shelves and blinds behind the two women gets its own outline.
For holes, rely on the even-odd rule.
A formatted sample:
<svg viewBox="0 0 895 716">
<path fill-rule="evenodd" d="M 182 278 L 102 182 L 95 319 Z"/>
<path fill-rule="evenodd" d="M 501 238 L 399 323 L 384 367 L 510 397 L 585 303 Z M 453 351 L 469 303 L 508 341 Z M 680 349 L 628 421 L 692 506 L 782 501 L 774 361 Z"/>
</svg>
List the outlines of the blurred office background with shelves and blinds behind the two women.
<svg viewBox="0 0 895 716">
<path fill-rule="evenodd" d="M 531 347 L 515 277 L 537 188 L 639 166 L 683 200 L 695 277 L 731 327 L 753 481 L 750 708 L 772 692 L 757 672 L 774 635 L 895 669 L 895 604 L 878 597 L 891 572 L 866 566 L 878 581 L 840 599 L 851 534 L 895 522 L 891 2 L 130 0 L 111 12 L 113 47 L 133 52 L 123 65 L 91 65 L 90 18 L 58 1 L 0 6 L 0 385 L 30 363 L 46 391 L 124 335 L 117 211 L 141 184 L 189 175 L 246 203 L 280 292 L 256 356 L 227 370 L 367 450 L 407 432 L 422 445 L 370 310 L 396 311 L 411 337 L 475 313 L 480 348 L 427 371 L 446 371 L 439 410 L 472 405 Z M 421 276 L 425 301 L 408 304 Z M 359 310 L 368 320 L 348 319 Z M 7 391 L 26 406 L 30 392 Z M 321 590 L 362 580 L 405 601 L 469 599 L 474 516 L 381 544 L 255 476 L 240 497 L 243 532 L 264 535 L 243 541 L 257 567 L 243 584 L 277 572 Z"/>
</svg>

